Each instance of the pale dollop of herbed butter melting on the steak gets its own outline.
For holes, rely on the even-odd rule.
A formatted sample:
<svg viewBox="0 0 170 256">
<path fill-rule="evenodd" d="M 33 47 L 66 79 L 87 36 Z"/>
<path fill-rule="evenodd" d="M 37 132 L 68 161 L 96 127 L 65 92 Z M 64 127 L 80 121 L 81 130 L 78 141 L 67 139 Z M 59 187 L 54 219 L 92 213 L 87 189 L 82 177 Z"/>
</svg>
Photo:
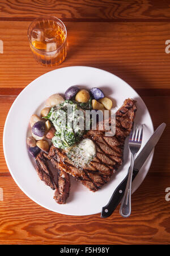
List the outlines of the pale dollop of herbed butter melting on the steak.
<svg viewBox="0 0 170 256">
<path fill-rule="evenodd" d="M 67 152 L 67 157 L 74 163 L 75 167 L 83 168 L 96 156 L 96 146 L 88 138 L 83 139 Z"/>
</svg>

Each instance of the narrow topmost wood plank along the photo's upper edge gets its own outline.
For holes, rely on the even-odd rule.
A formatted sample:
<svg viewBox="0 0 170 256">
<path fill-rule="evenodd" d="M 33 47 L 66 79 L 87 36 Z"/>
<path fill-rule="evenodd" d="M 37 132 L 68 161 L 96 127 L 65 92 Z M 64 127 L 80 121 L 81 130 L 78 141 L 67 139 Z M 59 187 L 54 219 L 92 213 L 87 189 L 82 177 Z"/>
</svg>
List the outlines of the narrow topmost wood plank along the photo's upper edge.
<svg viewBox="0 0 170 256">
<path fill-rule="evenodd" d="M 40 15 L 55 15 L 61 19 L 170 18 L 169 2 L 159 0 L 1 0 L 0 10 L 2 18 L 36 18 Z"/>
</svg>

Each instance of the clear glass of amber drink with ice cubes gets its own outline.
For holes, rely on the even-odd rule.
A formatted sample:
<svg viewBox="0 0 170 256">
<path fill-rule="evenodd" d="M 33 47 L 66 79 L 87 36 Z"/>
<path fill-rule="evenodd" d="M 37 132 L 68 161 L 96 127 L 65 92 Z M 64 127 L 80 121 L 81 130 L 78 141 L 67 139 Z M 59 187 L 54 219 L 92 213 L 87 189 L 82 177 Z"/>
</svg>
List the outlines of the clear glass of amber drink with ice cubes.
<svg viewBox="0 0 170 256">
<path fill-rule="evenodd" d="M 57 66 L 67 54 L 67 31 L 61 20 L 39 17 L 28 28 L 28 40 L 33 56 L 44 66 Z"/>
</svg>

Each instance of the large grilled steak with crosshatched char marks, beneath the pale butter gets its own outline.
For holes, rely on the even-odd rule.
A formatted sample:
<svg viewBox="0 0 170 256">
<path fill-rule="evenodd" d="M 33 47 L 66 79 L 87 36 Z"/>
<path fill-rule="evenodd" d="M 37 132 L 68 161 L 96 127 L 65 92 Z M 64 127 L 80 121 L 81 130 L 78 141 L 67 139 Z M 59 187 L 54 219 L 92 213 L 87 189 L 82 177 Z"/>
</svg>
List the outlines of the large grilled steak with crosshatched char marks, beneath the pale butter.
<svg viewBox="0 0 170 256">
<path fill-rule="evenodd" d="M 51 146 L 48 159 L 56 169 L 75 177 L 91 191 L 97 191 L 107 183 L 122 164 L 124 142 L 133 127 L 135 100 L 126 99 L 116 112 L 116 134 L 105 136 L 105 131 L 91 130 L 86 137 L 96 145 L 96 157 L 83 169 L 78 169 L 62 149 Z"/>
</svg>

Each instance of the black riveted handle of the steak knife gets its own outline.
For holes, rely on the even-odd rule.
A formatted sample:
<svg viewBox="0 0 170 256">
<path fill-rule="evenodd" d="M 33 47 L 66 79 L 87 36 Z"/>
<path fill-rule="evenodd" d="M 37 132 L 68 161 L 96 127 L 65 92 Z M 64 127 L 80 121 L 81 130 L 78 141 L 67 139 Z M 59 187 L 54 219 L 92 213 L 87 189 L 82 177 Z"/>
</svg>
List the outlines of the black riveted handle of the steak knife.
<svg viewBox="0 0 170 256">
<path fill-rule="evenodd" d="M 135 170 L 135 169 L 133 170 L 132 180 L 136 177 L 138 172 L 139 172 L 138 170 Z M 129 174 L 129 171 L 128 171 L 128 174 Z M 121 202 L 121 200 L 124 196 L 125 189 L 126 189 L 126 183 L 128 181 L 128 174 L 126 175 L 125 179 L 118 185 L 116 190 L 114 190 L 114 192 L 111 196 L 111 199 L 109 200 L 109 203 L 102 208 L 102 211 L 101 211 L 102 218 L 107 218 L 107 217 L 111 216 L 111 214 L 116 209 L 117 205 Z"/>
</svg>

